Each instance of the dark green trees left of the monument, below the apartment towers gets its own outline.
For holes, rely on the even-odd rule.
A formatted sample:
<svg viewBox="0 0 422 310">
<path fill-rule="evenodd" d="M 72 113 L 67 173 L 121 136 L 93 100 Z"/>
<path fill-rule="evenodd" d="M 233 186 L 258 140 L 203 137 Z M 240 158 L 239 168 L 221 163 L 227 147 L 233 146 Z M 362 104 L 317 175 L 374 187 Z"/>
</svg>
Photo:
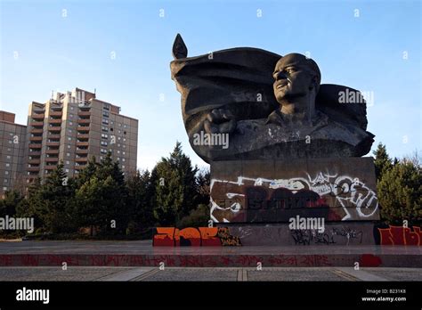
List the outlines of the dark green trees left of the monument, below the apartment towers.
<svg viewBox="0 0 422 310">
<path fill-rule="evenodd" d="M 99 163 L 89 159 L 76 177 L 67 177 L 60 163 L 26 195 L 5 192 L 0 217 L 33 217 L 37 234 L 150 234 L 155 226 L 207 224 L 208 202 L 209 170 L 192 167 L 176 143 L 151 171 L 131 175 L 110 152 Z"/>
</svg>

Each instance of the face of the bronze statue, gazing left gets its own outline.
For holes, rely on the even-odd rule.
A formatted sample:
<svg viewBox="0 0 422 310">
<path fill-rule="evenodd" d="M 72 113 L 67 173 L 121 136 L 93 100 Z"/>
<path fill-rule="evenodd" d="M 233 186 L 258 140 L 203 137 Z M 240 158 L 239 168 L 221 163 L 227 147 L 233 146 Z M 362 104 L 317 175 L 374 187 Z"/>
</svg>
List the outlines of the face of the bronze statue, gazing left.
<svg viewBox="0 0 422 310">
<path fill-rule="evenodd" d="M 305 61 L 304 55 L 290 53 L 277 62 L 272 76 L 274 95 L 278 102 L 304 96 L 315 86 L 312 69 L 307 68 Z"/>
</svg>

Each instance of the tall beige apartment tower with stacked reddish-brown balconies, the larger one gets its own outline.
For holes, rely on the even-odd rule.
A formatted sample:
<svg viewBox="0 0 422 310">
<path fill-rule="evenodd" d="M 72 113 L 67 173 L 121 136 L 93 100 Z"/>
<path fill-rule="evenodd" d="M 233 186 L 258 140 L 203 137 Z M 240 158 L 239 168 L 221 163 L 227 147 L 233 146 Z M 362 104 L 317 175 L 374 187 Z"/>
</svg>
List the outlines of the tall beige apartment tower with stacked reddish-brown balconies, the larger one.
<svg viewBox="0 0 422 310">
<path fill-rule="evenodd" d="M 27 141 L 28 182 L 45 177 L 61 160 L 69 176 L 77 175 L 88 159 L 100 161 L 108 151 L 128 173 L 136 170 L 138 120 L 76 88 L 29 104 Z"/>
</svg>

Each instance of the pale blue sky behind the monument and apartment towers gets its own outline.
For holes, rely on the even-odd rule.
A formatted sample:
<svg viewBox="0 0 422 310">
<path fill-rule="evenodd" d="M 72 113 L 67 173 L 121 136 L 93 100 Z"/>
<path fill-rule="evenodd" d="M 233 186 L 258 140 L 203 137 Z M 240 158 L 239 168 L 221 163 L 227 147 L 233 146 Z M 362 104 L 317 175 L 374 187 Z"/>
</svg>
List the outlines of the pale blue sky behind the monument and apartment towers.
<svg viewBox="0 0 422 310">
<path fill-rule="evenodd" d="M 97 98 L 140 120 L 138 167 L 153 167 L 176 140 L 194 164 L 205 165 L 188 143 L 170 78 L 177 33 L 190 56 L 238 46 L 308 52 L 321 83 L 373 92 L 373 148 L 385 143 L 396 157 L 421 150 L 419 1 L 0 3 L 0 110 L 25 124 L 28 103 L 45 102 L 52 90 L 96 88 Z"/>
</svg>

